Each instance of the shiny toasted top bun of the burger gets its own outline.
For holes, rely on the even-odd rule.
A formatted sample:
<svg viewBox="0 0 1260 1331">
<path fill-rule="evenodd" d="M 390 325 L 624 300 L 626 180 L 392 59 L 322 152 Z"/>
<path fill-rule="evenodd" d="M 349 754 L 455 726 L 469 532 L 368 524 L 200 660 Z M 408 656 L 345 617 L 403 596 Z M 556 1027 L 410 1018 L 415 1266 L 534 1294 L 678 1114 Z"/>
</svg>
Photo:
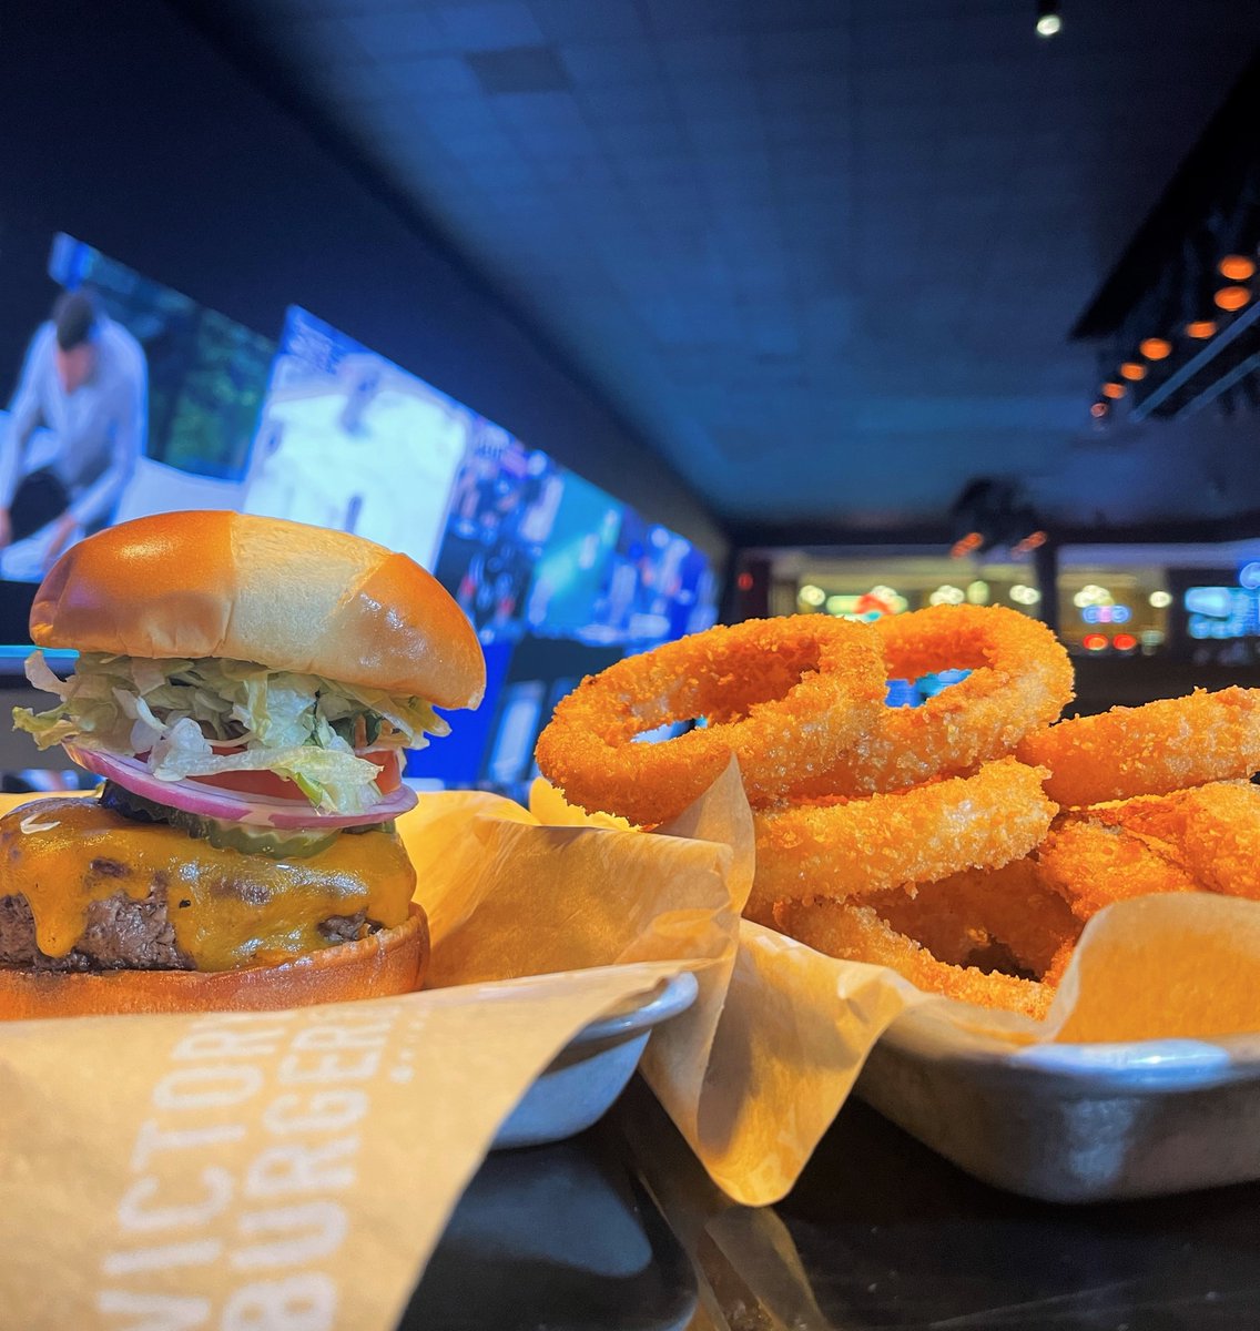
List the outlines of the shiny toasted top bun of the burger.
<svg viewBox="0 0 1260 1331">
<path fill-rule="evenodd" d="M 31 607 L 40 647 L 224 656 L 476 707 L 486 663 L 446 588 L 343 531 L 214 510 L 106 527 L 68 550 Z"/>
</svg>

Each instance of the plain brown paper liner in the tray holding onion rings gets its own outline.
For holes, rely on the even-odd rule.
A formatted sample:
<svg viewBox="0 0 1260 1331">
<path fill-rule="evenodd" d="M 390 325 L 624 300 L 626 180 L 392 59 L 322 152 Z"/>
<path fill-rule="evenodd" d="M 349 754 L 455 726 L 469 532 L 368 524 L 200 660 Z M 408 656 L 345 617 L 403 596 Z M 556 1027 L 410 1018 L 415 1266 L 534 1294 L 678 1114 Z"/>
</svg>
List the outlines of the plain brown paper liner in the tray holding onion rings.
<svg viewBox="0 0 1260 1331">
<path fill-rule="evenodd" d="M 584 820 L 546 785 L 534 805 L 551 821 Z M 1180 893 L 1110 906 L 1087 925 L 1042 1024 L 925 994 L 883 966 L 825 957 L 746 920 L 738 932 L 725 1002 L 659 1032 L 643 1071 L 714 1182 L 753 1206 L 790 1190 L 909 1006 L 931 1004 L 1006 1050 L 1260 1030 L 1256 901 Z"/>
</svg>

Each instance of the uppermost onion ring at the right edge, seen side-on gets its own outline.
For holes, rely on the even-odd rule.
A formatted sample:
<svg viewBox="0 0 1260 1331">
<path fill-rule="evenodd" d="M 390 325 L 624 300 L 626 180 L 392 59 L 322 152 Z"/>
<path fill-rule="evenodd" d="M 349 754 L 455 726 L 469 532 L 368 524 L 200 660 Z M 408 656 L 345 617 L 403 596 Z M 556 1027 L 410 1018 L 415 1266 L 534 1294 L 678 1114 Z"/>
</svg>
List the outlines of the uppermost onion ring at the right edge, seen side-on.
<svg viewBox="0 0 1260 1331">
<path fill-rule="evenodd" d="M 1050 768 L 1046 793 L 1076 808 L 1247 777 L 1260 771 L 1260 689 L 1114 707 L 1030 735 L 1017 753 Z"/>
</svg>

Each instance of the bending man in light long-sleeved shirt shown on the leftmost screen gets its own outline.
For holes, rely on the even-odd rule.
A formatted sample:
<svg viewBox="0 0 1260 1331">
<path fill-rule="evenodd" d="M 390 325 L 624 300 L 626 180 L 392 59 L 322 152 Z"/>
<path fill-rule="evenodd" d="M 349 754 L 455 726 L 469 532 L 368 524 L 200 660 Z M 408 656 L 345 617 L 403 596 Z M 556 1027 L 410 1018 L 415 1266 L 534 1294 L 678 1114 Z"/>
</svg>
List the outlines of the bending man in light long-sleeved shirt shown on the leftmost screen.
<svg viewBox="0 0 1260 1331">
<path fill-rule="evenodd" d="M 136 338 L 86 290 L 64 291 L 31 339 L 0 438 L 0 548 L 39 536 L 45 567 L 109 523 L 148 425 Z"/>
</svg>

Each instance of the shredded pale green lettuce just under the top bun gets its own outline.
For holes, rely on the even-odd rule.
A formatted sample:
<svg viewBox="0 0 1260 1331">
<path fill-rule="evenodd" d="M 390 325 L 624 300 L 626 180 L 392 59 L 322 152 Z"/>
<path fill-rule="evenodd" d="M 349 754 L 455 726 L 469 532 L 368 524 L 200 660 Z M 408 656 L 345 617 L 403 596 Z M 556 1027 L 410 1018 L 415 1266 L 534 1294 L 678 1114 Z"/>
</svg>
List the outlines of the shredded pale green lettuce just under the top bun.
<svg viewBox="0 0 1260 1331">
<path fill-rule="evenodd" d="M 85 652 L 61 680 L 36 651 L 27 679 L 60 699 L 47 712 L 13 708 L 13 724 L 41 749 L 72 740 L 125 757 L 144 753 L 164 781 L 274 772 L 329 813 L 361 813 L 381 797 L 378 767 L 355 748 L 423 748 L 426 735 L 450 731 L 423 699 L 251 662 Z"/>
</svg>

